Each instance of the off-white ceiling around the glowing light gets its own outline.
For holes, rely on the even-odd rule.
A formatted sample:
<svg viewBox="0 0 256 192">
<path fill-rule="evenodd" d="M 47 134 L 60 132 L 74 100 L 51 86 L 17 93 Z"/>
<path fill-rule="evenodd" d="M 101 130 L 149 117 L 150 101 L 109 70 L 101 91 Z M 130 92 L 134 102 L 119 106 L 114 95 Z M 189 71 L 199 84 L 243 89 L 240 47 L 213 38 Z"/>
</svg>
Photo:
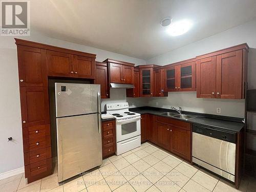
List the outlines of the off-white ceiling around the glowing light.
<svg viewBox="0 0 256 192">
<path fill-rule="evenodd" d="M 256 17 L 255 0 L 33 0 L 30 6 L 32 30 L 145 60 Z M 193 26 L 170 36 L 160 25 L 166 16 Z"/>
</svg>

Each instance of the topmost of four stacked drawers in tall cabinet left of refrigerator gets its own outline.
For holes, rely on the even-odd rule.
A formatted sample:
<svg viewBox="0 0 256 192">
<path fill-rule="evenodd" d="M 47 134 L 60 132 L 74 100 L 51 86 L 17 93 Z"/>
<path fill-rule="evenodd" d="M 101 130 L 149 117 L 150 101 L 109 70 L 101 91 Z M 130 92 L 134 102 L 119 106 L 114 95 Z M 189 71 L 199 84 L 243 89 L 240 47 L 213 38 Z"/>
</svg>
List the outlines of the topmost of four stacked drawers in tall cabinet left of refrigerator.
<svg viewBox="0 0 256 192">
<path fill-rule="evenodd" d="M 23 128 L 23 139 L 34 139 L 50 135 L 50 124 L 37 125 Z"/>
</svg>

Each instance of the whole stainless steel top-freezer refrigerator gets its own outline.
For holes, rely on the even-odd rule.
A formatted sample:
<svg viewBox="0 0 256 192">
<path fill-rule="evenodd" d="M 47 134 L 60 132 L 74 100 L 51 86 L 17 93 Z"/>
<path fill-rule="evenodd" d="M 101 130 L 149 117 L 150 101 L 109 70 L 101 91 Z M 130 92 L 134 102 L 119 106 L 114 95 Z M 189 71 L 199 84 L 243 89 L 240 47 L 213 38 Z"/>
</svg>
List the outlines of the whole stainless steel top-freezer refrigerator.
<svg viewBox="0 0 256 192">
<path fill-rule="evenodd" d="M 97 84 L 55 83 L 58 182 L 102 164 Z"/>
</svg>

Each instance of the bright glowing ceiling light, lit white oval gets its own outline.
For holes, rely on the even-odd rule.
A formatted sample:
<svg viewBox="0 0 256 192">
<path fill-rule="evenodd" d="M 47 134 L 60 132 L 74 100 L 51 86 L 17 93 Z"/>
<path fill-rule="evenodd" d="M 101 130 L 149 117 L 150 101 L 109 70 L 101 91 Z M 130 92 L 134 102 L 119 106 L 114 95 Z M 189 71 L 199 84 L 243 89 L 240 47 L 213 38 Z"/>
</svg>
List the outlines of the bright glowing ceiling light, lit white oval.
<svg viewBox="0 0 256 192">
<path fill-rule="evenodd" d="M 172 23 L 167 29 L 167 33 L 172 36 L 179 36 L 186 33 L 192 27 L 192 22 L 187 19 Z"/>
</svg>

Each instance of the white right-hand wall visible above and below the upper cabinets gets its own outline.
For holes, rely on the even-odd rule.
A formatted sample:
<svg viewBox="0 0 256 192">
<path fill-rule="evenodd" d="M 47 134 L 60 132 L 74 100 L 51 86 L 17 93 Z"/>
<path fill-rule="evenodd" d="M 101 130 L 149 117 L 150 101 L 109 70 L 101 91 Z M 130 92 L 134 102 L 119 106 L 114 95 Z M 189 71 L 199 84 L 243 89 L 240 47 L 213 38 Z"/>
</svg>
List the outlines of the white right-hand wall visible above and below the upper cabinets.
<svg viewBox="0 0 256 192">
<path fill-rule="evenodd" d="M 166 65 L 169 63 L 193 58 L 197 55 L 217 51 L 230 46 L 247 42 L 250 47 L 248 55 L 248 84 L 250 89 L 256 88 L 256 20 L 245 23 L 238 27 L 226 30 L 222 33 L 210 36 L 187 46 L 164 53 L 147 60 L 147 63 Z M 174 93 L 169 92 L 167 98 L 151 98 L 150 106 L 156 106 L 156 102 L 162 108 L 171 105 L 182 106 L 184 110 L 217 114 L 216 108 L 221 108 L 220 115 L 244 117 L 244 100 L 235 99 L 202 99 L 196 97 L 196 92 Z"/>
</svg>

